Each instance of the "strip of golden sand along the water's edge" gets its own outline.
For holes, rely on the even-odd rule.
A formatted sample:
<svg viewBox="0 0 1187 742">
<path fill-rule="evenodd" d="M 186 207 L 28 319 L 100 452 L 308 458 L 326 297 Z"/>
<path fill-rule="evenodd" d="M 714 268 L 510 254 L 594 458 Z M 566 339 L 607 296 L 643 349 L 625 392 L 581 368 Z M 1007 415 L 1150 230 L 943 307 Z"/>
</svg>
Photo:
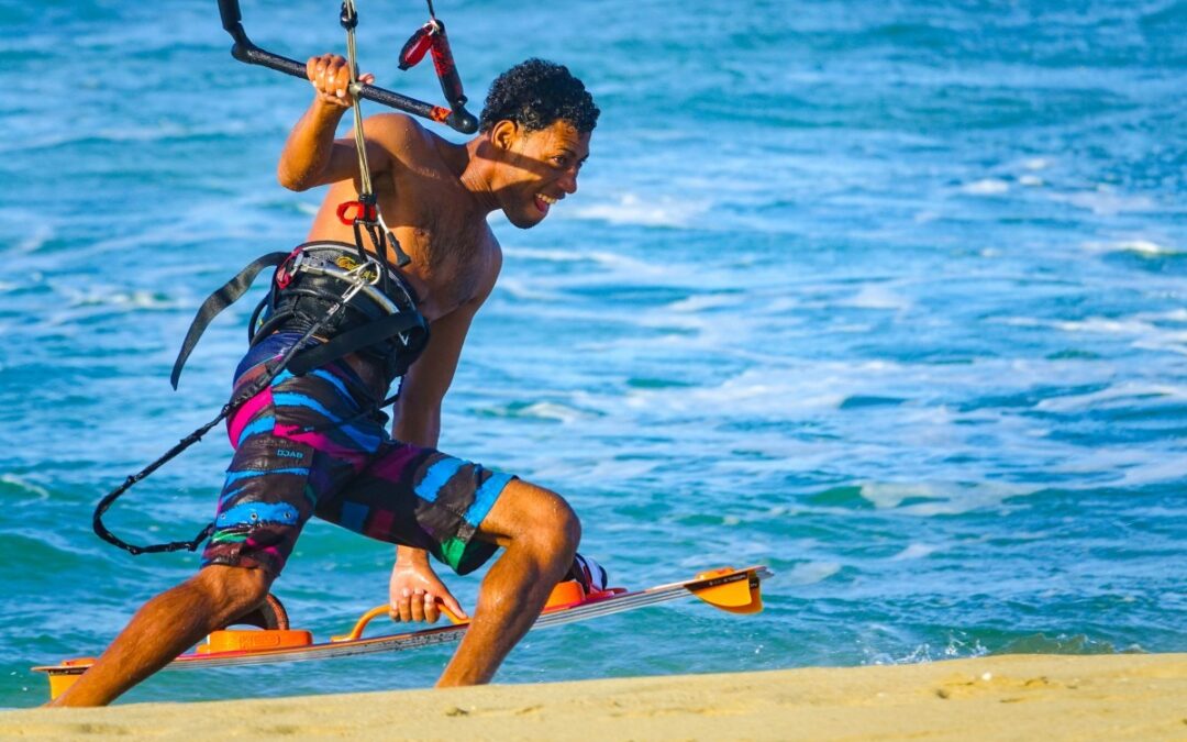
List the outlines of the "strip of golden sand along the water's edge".
<svg viewBox="0 0 1187 742">
<path fill-rule="evenodd" d="M 1182 740 L 1187 653 L 0 712 L 9 738 Z"/>
</svg>

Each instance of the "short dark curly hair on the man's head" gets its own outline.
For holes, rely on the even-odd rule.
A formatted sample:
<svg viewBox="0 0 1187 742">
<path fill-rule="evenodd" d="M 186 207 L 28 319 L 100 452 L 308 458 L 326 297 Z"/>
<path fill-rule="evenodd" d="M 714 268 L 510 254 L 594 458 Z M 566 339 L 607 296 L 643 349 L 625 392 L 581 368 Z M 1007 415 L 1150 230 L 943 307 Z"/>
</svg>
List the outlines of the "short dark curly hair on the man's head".
<svg viewBox="0 0 1187 742">
<path fill-rule="evenodd" d="M 597 126 L 599 113 L 594 96 L 569 68 L 532 58 L 490 83 L 480 128 L 489 132 L 495 123 L 508 120 L 538 132 L 564 120 L 584 134 Z"/>
</svg>

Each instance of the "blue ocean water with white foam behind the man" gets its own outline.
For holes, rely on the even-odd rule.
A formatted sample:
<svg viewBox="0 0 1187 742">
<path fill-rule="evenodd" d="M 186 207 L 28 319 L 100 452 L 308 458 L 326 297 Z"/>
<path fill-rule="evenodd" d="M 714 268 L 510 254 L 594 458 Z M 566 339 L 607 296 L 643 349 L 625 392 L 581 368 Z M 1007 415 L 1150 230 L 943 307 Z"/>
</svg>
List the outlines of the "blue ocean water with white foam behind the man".
<svg viewBox="0 0 1187 742">
<path fill-rule="evenodd" d="M 1187 4 L 438 0 L 477 109 L 529 56 L 603 109 L 580 192 L 493 218 L 503 277 L 442 446 L 564 493 L 631 588 L 764 563 L 767 609 L 532 634 L 500 681 L 1008 652 L 1187 651 Z M 261 45 L 343 49 L 337 4 L 245 0 Z M 360 2 L 380 84 L 413 1 Z M 277 185 L 309 90 L 235 63 L 214 2 L 0 4 L 0 706 L 100 652 L 193 556 L 95 501 L 209 419 L 247 302 L 305 234 Z M 379 110 L 372 106 L 369 112 Z M 442 131 L 453 140 L 461 138 Z M 189 538 L 210 439 L 113 527 Z M 392 550 L 315 524 L 275 591 L 338 633 Z M 474 577 L 450 583 L 472 604 Z M 449 648 L 160 674 L 129 700 L 430 685 Z"/>
</svg>

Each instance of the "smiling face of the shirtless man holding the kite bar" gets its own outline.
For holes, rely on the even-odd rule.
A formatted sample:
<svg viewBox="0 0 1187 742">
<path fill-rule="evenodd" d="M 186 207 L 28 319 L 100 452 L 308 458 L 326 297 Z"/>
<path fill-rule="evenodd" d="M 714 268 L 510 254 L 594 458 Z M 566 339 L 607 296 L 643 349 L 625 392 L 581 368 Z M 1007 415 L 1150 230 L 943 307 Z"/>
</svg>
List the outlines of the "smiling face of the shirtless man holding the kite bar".
<svg viewBox="0 0 1187 742">
<path fill-rule="evenodd" d="M 590 134 L 556 121 L 535 132 L 514 125 L 510 131 L 496 128 L 495 135 L 504 145 L 495 189 L 499 205 L 520 229 L 535 227 L 554 203 L 577 192 L 577 175 L 590 154 Z"/>
</svg>

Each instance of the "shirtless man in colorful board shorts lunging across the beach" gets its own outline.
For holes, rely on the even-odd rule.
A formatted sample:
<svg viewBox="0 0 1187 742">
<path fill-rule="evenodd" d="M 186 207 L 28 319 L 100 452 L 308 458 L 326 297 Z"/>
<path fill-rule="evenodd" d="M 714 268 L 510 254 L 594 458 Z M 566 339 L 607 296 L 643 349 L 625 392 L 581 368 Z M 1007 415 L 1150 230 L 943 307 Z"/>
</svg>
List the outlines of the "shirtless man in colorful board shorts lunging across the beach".
<svg viewBox="0 0 1187 742">
<path fill-rule="evenodd" d="M 315 100 L 288 137 L 279 179 L 296 191 L 329 184 L 309 240 L 353 245 L 353 229 L 336 215 L 338 204 L 357 197 L 354 139 L 335 140 L 351 106 L 349 71 L 343 58 L 325 55 L 309 61 L 307 75 Z M 236 454 L 203 569 L 148 601 L 53 705 L 110 703 L 254 609 L 312 514 L 396 544 L 389 590 L 398 621 L 436 621 L 438 602 L 464 615 L 430 566 L 430 553 L 464 573 L 502 547 L 438 686 L 491 679 L 570 569 L 580 525 L 557 494 L 438 452 L 440 405 L 470 322 L 502 264 L 487 215 L 502 210 L 527 229 L 576 192 L 597 115 L 592 97 L 565 68 L 531 59 L 495 81 L 480 133 L 463 145 L 401 114 L 367 120 L 380 213 L 412 259 L 399 274 L 419 298 L 431 330 L 402 379 L 394 439 L 374 414 L 354 420 L 383 398 L 391 382 L 364 354 L 277 376 L 228 420 Z M 391 249 L 385 258 L 394 269 Z M 262 362 L 278 357 L 299 334 L 281 328 L 258 341 L 240 363 L 236 387 L 259 375 Z M 317 433 L 309 432 L 316 425 L 301 426 L 325 420 L 337 424 Z M 224 522 L 243 507 L 287 508 L 292 518 Z"/>
</svg>

